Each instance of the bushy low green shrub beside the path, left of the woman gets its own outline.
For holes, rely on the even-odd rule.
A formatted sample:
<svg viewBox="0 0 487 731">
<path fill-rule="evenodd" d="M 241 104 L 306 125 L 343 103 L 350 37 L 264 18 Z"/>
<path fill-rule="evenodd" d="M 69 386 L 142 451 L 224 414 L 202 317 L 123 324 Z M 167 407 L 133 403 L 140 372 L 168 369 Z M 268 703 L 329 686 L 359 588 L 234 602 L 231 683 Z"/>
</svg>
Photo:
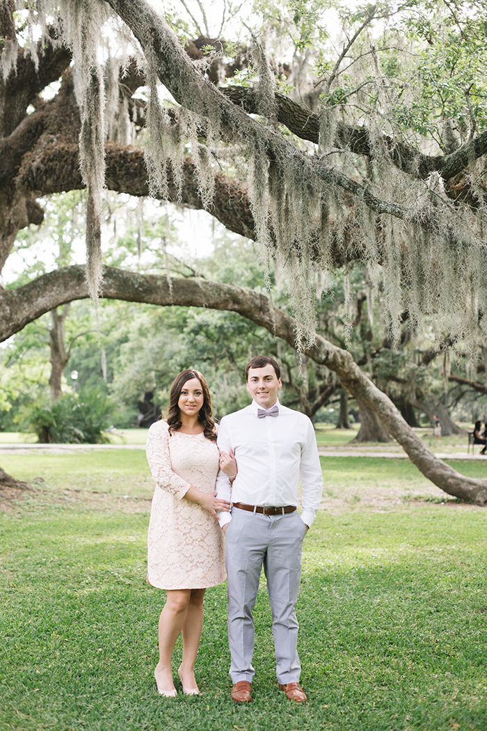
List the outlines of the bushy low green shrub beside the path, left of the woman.
<svg viewBox="0 0 487 731">
<path fill-rule="evenodd" d="M 33 431 L 39 442 L 106 444 L 113 406 L 93 390 L 64 394 L 48 404 L 40 401 L 19 415 L 20 428 Z"/>
</svg>

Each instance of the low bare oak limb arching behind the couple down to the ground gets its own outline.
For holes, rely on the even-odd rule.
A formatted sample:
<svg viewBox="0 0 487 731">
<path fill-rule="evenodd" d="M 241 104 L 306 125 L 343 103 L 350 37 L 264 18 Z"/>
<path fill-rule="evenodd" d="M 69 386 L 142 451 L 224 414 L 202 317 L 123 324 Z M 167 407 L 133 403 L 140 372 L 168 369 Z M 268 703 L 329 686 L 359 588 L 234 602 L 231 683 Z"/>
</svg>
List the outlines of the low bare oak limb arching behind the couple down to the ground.
<svg viewBox="0 0 487 731">
<path fill-rule="evenodd" d="M 266 295 L 231 284 L 170 279 L 106 267 L 101 295 L 159 306 L 181 305 L 237 312 L 283 338 L 291 347 L 295 346 L 295 322 L 290 315 L 275 307 Z M 86 298 L 88 288 L 81 266 L 60 268 L 18 289 L 0 289 L 0 341 L 55 307 Z M 375 412 L 384 429 L 437 487 L 449 495 L 479 505 L 487 504 L 487 480 L 464 477 L 437 458 L 407 425 L 388 396 L 362 373 L 349 352 L 317 335 L 314 344 L 305 349 L 305 355 L 334 371 L 348 393 Z"/>
</svg>

